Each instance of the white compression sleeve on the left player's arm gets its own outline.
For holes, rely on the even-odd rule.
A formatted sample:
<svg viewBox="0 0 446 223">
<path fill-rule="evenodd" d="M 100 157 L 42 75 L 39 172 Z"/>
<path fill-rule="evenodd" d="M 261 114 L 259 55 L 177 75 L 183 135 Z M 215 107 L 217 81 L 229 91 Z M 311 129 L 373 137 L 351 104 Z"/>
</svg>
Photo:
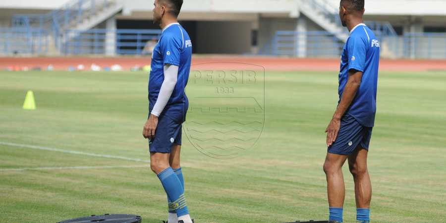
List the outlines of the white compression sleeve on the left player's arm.
<svg viewBox="0 0 446 223">
<path fill-rule="evenodd" d="M 164 65 L 164 81 L 161 85 L 160 94 L 158 95 L 157 102 L 153 107 L 152 114 L 155 116 L 160 116 L 167 102 L 172 95 L 173 89 L 175 88 L 176 81 L 178 79 L 178 66 L 166 64 Z"/>
</svg>

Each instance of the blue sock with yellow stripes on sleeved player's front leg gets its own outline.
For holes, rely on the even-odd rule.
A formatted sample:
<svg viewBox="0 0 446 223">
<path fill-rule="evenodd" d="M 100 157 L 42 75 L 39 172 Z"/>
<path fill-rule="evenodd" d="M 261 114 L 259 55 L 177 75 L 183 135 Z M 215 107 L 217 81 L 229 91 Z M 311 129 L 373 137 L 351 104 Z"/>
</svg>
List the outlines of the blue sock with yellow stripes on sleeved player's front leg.
<svg viewBox="0 0 446 223">
<path fill-rule="evenodd" d="M 163 184 L 167 197 L 172 201 L 169 203 L 169 212 L 176 210 L 178 217 L 188 215 L 189 210 L 187 209 L 186 198 L 184 197 L 184 189 L 173 169 L 168 167 L 158 174 L 158 178 L 160 178 Z"/>
</svg>

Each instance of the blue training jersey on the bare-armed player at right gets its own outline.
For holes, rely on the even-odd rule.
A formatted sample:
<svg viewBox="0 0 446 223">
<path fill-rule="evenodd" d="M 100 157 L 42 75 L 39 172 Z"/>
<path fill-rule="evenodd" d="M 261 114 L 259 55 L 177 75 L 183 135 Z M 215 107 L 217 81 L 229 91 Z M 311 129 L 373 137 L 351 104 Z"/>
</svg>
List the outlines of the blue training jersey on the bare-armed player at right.
<svg viewBox="0 0 446 223">
<path fill-rule="evenodd" d="M 350 31 L 350 37 L 342 50 L 338 105 L 348 80 L 348 71 L 355 69 L 363 72 L 361 85 L 345 113 L 367 127 L 373 127 L 375 124 L 379 62 L 378 39 L 365 24 L 357 25 Z"/>
</svg>

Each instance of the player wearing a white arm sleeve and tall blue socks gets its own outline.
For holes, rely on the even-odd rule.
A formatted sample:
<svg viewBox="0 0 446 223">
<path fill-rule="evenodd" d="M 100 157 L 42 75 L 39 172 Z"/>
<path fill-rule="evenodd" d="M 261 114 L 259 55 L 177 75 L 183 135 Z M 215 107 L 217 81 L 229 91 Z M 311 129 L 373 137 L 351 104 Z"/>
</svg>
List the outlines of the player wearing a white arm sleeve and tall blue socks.
<svg viewBox="0 0 446 223">
<path fill-rule="evenodd" d="M 152 53 L 149 118 L 143 135 L 149 141 L 150 166 L 167 193 L 168 223 L 193 223 L 184 196 L 180 166 L 181 124 L 189 106 L 184 88 L 189 78 L 192 43 L 178 23 L 183 0 L 155 0 L 154 24 L 163 29 Z"/>
</svg>

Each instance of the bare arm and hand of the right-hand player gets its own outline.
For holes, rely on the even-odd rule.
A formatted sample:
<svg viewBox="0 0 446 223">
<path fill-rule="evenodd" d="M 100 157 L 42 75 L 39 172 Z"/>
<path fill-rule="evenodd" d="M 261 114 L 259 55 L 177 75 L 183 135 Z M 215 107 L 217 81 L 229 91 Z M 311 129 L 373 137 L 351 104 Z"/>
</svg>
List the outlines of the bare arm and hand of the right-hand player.
<svg viewBox="0 0 446 223">
<path fill-rule="evenodd" d="M 344 115 L 345 111 L 347 111 L 348 107 L 350 107 L 350 104 L 353 101 L 359 86 L 361 85 L 361 79 L 361 71 L 355 69 L 349 70 L 347 84 L 345 85 L 344 93 L 342 94 L 339 106 L 337 107 L 330 124 L 325 130 L 325 132 L 327 132 L 327 146 L 331 146 L 333 142 L 335 142 L 340 128 L 340 119 L 342 115 Z"/>
</svg>

